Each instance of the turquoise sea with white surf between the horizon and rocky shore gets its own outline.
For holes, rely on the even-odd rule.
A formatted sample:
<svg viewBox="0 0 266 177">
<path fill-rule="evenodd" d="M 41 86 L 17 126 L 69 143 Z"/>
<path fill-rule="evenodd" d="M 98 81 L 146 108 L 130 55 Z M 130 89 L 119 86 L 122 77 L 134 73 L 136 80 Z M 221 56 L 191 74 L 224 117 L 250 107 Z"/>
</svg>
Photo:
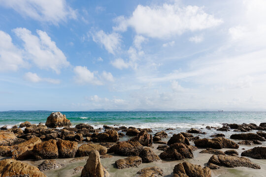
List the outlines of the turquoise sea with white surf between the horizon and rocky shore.
<svg viewBox="0 0 266 177">
<path fill-rule="evenodd" d="M 14 125 L 24 121 L 45 123 L 50 111 L 0 112 L 0 126 Z M 62 112 L 73 125 L 90 123 L 94 126 L 127 125 L 140 128 L 190 128 L 221 123 L 266 122 L 266 112 Z M 204 124 L 204 125 L 203 125 Z"/>
</svg>

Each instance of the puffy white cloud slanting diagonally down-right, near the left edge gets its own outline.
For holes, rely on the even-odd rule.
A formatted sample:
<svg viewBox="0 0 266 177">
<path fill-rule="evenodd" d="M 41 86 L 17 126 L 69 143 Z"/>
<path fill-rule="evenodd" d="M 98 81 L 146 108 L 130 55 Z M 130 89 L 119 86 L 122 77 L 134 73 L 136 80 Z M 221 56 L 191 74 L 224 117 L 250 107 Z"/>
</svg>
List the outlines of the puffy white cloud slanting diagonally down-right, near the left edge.
<svg viewBox="0 0 266 177">
<path fill-rule="evenodd" d="M 69 65 L 64 53 L 46 32 L 36 30 L 38 37 L 25 28 L 13 29 L 13 31 L 24 41 L 24 50 L 27 58 L 31 59 L 39 68 L 51 68 L 59 74 L 61 68 Z"/>
</svg>

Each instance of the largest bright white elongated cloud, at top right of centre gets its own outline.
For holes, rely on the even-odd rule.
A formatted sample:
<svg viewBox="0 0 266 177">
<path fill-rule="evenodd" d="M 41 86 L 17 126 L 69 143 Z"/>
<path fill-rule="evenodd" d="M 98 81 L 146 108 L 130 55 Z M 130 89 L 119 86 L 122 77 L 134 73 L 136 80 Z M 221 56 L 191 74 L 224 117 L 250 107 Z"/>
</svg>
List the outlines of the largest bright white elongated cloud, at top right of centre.
<svg viewBox="0 0 266 177">
<path fill-rule="evenodd" d="M 212 28 L 223 23 L 204 12 L 203 7 L 180 7 L 177 3 L 152 7 L 138 5 L 131 17 L 120 16 L 115 22 L 118 26 L 113 27 L 114 30 L 126 31 L 132 27 L 138 34 L 156 38 Z"/>
</svg>

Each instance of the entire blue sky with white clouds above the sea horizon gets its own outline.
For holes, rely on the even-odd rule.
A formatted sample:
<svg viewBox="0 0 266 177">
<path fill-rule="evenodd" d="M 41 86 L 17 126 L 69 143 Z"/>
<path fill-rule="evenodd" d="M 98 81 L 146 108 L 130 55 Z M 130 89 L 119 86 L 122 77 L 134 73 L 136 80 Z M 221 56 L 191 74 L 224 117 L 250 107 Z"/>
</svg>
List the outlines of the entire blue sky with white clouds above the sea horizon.
<svg viewBox="0 0 266 177">
<path fill-rule="evenodd" d="M 266 111 L 266 0 L 0 0 L 0 111 Z"/>
</svg>

